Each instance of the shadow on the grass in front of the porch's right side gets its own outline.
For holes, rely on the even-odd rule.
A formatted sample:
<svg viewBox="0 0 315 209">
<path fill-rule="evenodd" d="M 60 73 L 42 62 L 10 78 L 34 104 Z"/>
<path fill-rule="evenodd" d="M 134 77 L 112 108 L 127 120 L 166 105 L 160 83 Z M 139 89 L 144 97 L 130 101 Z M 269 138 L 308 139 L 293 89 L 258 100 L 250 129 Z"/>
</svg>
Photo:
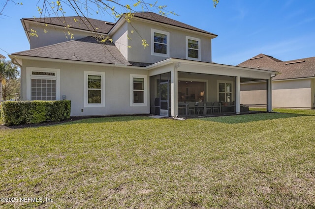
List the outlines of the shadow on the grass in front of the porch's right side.
<svg viewBox="0 0 315 209">
<path fill-rule="evenodd" d="M 256 113 L 256 114 L 233 115 L 233 116 L 222 116 L 222 117 L 209 117 L 209 118 L 200 118 L 200 119 L 198 118 L 197 120 L 213 121 L 213 122 L 227 123 L 227 124 L 238 124 L 238 123 L 249 123 L 249 122 L 255 122 L 255 121 L 304 117 L 304 116 L 314 116 L 314 115 L 268 112 L 268 113 Z"/>
</svg>

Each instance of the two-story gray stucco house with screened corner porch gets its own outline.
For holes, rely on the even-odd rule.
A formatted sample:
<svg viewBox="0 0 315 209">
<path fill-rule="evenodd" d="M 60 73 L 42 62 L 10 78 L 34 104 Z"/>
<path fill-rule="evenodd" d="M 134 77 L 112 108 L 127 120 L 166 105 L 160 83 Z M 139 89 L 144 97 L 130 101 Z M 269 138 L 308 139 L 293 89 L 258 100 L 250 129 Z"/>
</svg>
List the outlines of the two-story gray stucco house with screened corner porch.
<svg viewBox="0 0 315 209">
<path fill-rule="evenodd" d="M 240 113 L 247 110 L 241 82 L 270 84 L 276 73 L 213 63 L 217 35 L 152 12 L 133 13 L 131 23 L 66 17 L 22 24 L 31 50 L 10 55 L 21 66 L 21 99 L 71 100 L 71 116 Z M 96 34 L 113 41 L 100 43 Z"/>
</svg>

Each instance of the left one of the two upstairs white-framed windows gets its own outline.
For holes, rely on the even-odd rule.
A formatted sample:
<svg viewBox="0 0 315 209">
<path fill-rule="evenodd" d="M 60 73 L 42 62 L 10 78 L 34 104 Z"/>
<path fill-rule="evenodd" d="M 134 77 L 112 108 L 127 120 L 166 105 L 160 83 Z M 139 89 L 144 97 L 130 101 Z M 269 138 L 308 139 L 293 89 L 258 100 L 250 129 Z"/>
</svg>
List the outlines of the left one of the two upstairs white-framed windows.
<svg viewBox="0 0 315 209">
<path fill-rule="evenodd" d="M 169 57 L 169 32 L 151 29 L 151 55 Z"/>
</svg>

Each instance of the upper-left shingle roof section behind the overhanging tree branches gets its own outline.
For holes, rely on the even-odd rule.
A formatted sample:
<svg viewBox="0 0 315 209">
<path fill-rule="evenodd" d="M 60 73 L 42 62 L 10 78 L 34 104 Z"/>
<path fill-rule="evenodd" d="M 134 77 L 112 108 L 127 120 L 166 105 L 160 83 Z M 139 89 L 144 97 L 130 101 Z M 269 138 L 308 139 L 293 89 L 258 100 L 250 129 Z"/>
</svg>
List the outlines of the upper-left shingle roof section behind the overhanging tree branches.
<svg viewBox="0 0 315 209">
<path fill-rule="evenodd" d="M 43 17 L 43 18 L 23 18 L 23 20 L 46 23 L 55 26 L 69 26 L 71 28 L 90 30 L 93 32 L 108 33 L 114 26 L 114 23 L 84 18 L 79 16 L 72 17 Z"/>
</svg>

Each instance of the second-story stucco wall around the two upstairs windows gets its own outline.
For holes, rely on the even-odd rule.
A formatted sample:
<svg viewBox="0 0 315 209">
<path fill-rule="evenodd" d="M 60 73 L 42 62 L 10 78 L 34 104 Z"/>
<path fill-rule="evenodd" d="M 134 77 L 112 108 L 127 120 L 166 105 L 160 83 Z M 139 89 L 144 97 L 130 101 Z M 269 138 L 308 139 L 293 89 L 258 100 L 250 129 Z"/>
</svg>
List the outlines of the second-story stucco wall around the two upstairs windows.
<svg viewBox="0 0 315 209">
<path fill-rule="evenodd" d="M 128 61 L 156 63 L 168 58 L 151 55 L 151 29 L 170 33 L 169 58 L 186 59 L 186 36 L 191 36 L 200 39 L 201 61 L 211 62 L 211 38 L 209 36 L 202 35 L 201 33 L 183 31 L 177 28 L 165 27 L 152 22 L 140 22 L 138 20 L 132 20 L 131 24 L 128 24 L 128 46 L 130 46 L 130 48 L 127 49 Z M 131 30 L 133 30 L 133 33 L 130 32 Z M 142 46 L 142 39 L 146 40 L 149 44 L 148 47 L 144 48 Z"/>
</svg>

